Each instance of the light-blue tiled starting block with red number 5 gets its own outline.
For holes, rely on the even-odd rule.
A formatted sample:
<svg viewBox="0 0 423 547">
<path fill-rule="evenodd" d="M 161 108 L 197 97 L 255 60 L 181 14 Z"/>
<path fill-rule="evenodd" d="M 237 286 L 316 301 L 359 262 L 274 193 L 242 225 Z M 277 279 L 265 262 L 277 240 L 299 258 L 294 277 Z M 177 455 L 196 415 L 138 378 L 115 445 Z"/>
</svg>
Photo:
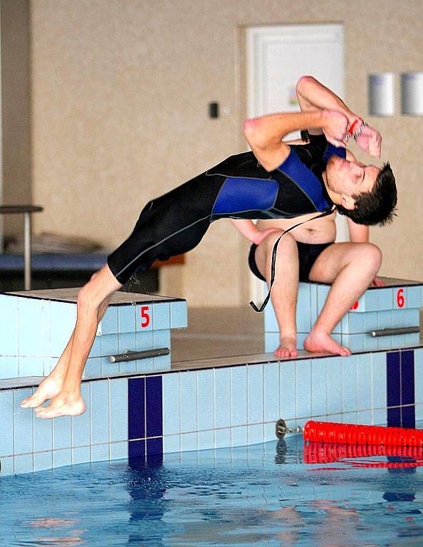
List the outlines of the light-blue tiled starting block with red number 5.
<svg viewBox="0 0 423 547">
<path fill-rule="evenodd" d="M 0 379 L 46 376 L 73 332 L 78 288 L 0 294 Z M 187 327 L 182 298 L 114 293 L 84 377 L 170 369 L 170 330 Z"/>
</svg>

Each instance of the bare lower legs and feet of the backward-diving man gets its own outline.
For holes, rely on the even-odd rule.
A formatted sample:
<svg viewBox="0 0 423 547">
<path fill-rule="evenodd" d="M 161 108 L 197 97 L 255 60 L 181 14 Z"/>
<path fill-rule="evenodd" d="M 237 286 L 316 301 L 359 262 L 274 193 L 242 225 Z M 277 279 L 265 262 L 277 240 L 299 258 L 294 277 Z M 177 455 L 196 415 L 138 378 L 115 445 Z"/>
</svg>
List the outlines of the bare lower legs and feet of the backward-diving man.
<svg viewBox="0 0 423 547">
<path fill-rule="evenodd" d="M 36 393 L 22 402 L 23 407 L 37 407 L 38 417 L 43 418 L 84 412 L 85 403 L 80 395 L 83 369 L 98 323 L 107 309 L 108 297 L 121 286 L 106 265 L 81 288 L 78 293 L 77 320 L 71 338 L 56 368 L 41 383 Z M 50 404 L 41 407 L 46 400 L 51 400 Z"/>
</svg>

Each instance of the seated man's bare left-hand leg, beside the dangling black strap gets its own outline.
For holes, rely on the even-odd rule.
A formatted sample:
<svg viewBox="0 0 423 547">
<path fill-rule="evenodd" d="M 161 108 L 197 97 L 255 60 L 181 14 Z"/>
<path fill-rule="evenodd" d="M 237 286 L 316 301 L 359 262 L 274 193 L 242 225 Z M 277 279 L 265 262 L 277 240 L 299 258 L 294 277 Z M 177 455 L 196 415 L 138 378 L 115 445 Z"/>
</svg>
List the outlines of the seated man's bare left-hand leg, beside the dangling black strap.
<svg viewBox="0 0 423 547">
<path fill-rule="evenodd" d="M 273 245 L 282 231 L 275 231 L 263 239 L 256 249 L 258 271 L 270 283 Z M 285 234 L 278 244 L 276 276 L 273 282 L 271 301 L 279 326 L 279 345 L 276 357 L 296 357 L 297 328 L 296 307 L 298 294 L 298 247 L 291 234 Z"/>
</svg>

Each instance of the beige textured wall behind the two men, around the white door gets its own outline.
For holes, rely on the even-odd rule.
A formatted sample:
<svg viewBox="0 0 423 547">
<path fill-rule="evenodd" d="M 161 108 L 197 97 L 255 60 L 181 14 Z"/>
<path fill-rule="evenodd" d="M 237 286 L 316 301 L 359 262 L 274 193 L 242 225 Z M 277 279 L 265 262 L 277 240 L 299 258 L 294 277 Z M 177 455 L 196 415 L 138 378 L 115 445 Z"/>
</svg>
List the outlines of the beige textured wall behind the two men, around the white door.
<svg viewBox="0 0 423 547">
<path fill-rule="evenodd" d="M 367 112 L 367 73 L 422 68 L 422 4 L 325 0 L 32 0 L 33 199 L 36 231 L 115 246 L 148 199 L 243 149 L 239 36 L 254 24 L 345 25 L 346 101 Z M 219 101 L 229 113 L 207 117 Z M 382 273 L 423 278 L 422 118 L 372 119 L 399 186 L 399 218 L 372 229 Z M 212 224 L 162 291 L 191 306 L 236 306 L 245 245 Z"/>
</svg>

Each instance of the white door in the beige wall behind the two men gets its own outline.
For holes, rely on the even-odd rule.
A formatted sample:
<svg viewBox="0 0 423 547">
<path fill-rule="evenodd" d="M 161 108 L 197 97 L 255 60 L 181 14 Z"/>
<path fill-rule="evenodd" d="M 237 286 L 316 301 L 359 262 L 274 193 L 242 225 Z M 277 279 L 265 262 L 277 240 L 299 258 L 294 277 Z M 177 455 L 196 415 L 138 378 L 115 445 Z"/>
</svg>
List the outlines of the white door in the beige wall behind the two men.
<svg viewBox="0 0 423 547">
<path fill-rule="evenodd" d="M 246 30 L 247 117 L 299 110 L 296 83 L 313 75 L 343 97 L 343 25 L 252 26 Z M 287 135 L 297 138 L 299 132 Z M 337 241 L 347 241 L 344 218 L 337 215 Z M 263 283 L 253 274 L 250 293 L 263 299 Z"/>
</svg>

